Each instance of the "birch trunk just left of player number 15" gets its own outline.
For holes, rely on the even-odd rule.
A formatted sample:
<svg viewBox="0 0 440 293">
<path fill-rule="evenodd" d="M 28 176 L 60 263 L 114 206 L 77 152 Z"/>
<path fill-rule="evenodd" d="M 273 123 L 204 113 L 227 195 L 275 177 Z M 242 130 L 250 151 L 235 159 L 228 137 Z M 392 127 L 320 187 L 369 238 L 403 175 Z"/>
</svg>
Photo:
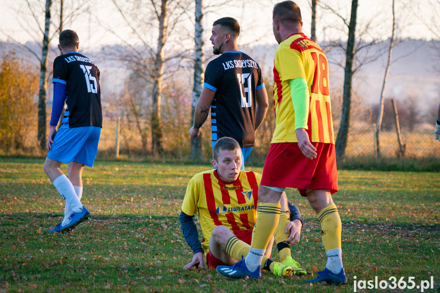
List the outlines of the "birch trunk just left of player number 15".
<svg viewBox="0 0 440 293">
<path fill-rule="evenodd" d="M 43 47 L 41 50 L 41 62 L 40 62 L 40 89 L 38 92 L 38 131 L 37 137 L 40 143 L 40 148 L 46 147 L 46 89 L 47 89 L 47 59 L 49 56 L 49 28 L 50 28 L 50 7 L 52 6 L 52 0 L 46 0 L 45 9 L 45 22 L 44 22 L 44 35 L 43 35 Z"/>
</svg>

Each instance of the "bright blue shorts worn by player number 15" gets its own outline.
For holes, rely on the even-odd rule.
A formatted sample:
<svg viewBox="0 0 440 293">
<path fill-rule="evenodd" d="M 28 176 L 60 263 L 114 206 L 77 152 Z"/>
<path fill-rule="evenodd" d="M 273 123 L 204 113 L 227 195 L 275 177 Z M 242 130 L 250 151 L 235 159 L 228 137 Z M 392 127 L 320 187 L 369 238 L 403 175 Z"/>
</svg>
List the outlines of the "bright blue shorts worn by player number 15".
<svg viewBox="0 0 440 293">
<path fill-rule="evenodd" d="M 69 128 L 62 125 L 54 138 L 47 157 L 69 164 L 76 162 L 92 167 L 98 151 L 101 128 L 95 126 Z"/>
</svg>

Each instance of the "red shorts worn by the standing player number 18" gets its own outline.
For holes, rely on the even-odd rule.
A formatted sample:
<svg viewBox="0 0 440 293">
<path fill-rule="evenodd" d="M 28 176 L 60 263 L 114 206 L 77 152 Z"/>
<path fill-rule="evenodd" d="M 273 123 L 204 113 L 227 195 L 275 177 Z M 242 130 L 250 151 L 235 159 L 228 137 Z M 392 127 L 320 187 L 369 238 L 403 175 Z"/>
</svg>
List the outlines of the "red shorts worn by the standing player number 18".
<svg viewBox="0 0 440 293">
<path fill-rule="evenodd" d="M 273 143 L 263 168 L 261 185 L 297 188 L 301 196 L 307 189 L 338 191 L 338 171 L 333 144 L 312 143 L 317 157 L 306 158 L 298 143 Z"/>
</svg>

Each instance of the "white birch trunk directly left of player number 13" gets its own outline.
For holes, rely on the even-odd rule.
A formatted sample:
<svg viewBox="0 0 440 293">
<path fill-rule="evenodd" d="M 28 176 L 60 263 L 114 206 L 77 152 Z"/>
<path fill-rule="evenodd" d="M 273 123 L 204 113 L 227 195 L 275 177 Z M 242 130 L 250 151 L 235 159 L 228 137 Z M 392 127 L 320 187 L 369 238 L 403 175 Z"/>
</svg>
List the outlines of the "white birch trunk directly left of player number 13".
<svg viewBox="0 0 440 293">
<path fill-rule="evenodd" d="M 194 124 L 194 113 L 202 90 L 204 79 L 205 56 L 203 51 L 203 0 L 195 0 L 195 36 L 194 36 L 194 83 L 192 93 L 191 125 Z M 191 159 L 200 161 L 202 157 L 201 134 L 198 139 L 191 139 Z"/>
</svg>

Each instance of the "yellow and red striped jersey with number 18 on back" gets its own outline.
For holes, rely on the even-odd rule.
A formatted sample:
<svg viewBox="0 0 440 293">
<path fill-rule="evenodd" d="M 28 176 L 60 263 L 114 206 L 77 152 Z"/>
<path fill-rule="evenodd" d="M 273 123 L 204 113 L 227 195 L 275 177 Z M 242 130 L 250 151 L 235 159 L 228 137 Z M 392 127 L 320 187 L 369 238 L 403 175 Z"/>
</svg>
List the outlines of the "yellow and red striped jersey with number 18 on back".
<svg viewBox="0 0 440 293">
<path fill-rule="evenodd" d="M 334 144 L 328 62 L 319 45 L 302 33 L 290 36 L 276 49 L 273 73 L 276 124 L 272 143 L 298 142 L 289 81 L 305 78 L 310 98 L 308 137 L 312 142 Z"/>
</svg>

